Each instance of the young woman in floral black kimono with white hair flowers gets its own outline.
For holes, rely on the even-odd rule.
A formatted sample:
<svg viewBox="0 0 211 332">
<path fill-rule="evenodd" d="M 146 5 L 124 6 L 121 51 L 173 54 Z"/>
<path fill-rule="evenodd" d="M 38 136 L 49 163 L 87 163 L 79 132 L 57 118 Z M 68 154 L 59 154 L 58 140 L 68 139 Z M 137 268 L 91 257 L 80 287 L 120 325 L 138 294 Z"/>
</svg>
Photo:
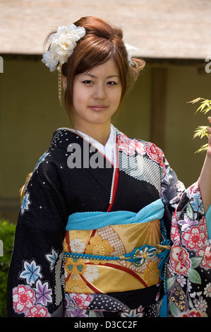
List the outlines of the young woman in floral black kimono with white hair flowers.
<svg viewBox="0 0 211 332">
<path fill-rule="evenodd" d="M 121 30 L 87 17 L 50 40 L 73 129 L 56 131 L 25 191 L 8 316 L 211 316 L 211 142 L 185 190 L 162 150 L 111 125 L 144 66 Z"/>
</svg>

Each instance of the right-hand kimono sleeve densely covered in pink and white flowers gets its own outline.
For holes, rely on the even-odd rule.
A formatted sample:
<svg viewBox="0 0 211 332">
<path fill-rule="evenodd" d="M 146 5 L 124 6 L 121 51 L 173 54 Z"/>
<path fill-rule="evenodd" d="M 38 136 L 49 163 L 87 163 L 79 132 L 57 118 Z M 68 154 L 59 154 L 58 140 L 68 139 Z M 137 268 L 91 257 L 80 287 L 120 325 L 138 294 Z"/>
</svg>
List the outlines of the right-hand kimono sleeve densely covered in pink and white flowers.
<svg viewBox="0 0 211 332">
<path fill-rule="evenodd" d="M 167 268 L 168 314 L 173 317 L 211 316 L 209 213 L 205 215 L 198 182 L 185 189 L 167 161 L 164 164 L 162 199 L 171 238 Z"/>
</svg>

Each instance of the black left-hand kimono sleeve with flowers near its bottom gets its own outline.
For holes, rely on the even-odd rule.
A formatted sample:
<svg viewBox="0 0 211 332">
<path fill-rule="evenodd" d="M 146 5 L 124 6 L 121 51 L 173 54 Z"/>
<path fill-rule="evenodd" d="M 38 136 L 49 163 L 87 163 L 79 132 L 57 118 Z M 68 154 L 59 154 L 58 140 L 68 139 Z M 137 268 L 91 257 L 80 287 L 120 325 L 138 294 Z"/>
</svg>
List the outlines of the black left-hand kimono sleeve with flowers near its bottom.
<svg viewBox="0 0 211 332">
<path fill-rule="evenodd" d="M 20 208 L 8 274 L 8 316 L 63 316 L 66 201 L 58 167 L 44 155 Z"/>
</svg>

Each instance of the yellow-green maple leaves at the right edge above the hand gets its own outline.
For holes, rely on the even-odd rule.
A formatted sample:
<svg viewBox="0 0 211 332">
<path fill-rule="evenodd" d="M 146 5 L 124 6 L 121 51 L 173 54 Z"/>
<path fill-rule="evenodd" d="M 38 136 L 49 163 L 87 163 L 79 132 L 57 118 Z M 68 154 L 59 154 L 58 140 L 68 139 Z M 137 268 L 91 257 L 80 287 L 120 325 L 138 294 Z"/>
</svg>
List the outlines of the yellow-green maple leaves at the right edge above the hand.
<svg viewBox="0 0 211 332">
<path fill-rule="evenodd" d="M 211 100 L 198 97 L 198 98 L 192 100 L 191 103 L 194 104 L 195 102 L 199 102 L 199 101 L 200 101 L 200 106 L 198 107 L 198 109 L 196 109 L 195 113 L 203 112 L 204 114 L 207 114 L 207 112 L 209 112 L 211 110 Z M 201 139 L 205 136 L 206 137 L 210 136 L 207 133 L 207 126 L 198 126 L 195 129 L 195 134 L 193 135 L 193 138 L 199 137 Z M 204 144 L 203 146 L 200 146 L 200 148 L 197 151 L 195 151 L 195 153 L 206 151 L 207 148 L 208 148 L 208 143 Z"/>
</svg>

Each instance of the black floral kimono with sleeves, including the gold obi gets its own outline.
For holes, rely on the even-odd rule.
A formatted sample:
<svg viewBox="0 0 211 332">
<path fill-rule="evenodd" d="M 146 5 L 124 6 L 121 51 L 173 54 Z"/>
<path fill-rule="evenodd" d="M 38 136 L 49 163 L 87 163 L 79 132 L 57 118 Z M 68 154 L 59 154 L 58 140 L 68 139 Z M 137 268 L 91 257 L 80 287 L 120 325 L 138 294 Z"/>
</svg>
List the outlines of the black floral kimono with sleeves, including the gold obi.
<svg viewBox="0 0 211 332">
<path fill-rule="evenodd" d="M 113 163 L 71 129 L 58 129 L 37 162 L 16 227 L 8 316 L 159 316 L 167 295 L 169 316 L 211 316 L 198 183 L 185 190 L 162 150 L 114 132 Z"/>
</svg>

